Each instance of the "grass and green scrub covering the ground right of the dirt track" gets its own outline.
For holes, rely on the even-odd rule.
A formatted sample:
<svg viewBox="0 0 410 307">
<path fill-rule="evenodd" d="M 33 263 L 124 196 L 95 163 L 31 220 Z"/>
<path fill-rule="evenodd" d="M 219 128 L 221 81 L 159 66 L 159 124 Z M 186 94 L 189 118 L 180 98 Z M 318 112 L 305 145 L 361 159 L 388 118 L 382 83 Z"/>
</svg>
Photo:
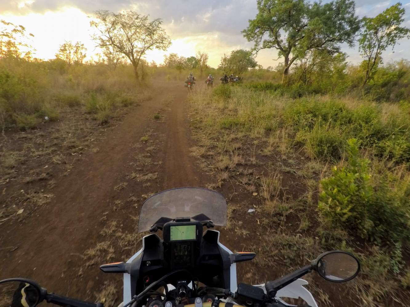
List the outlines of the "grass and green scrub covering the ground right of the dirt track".
<svg viewBox="0 0 410 307">
<path fill-rule="evenodd" d="M 356 294 L 368 304 L 389 300 L 408 287 L 410 105 L 309 90 L 262 82 L 198 91 L 193 154 L 215 174 L 214 188 L 236 181 L 259 193 L 264 227 L 296 212 L 298 236 L 313 239 L 304 250 L 360 254 Z"/>
</svg>

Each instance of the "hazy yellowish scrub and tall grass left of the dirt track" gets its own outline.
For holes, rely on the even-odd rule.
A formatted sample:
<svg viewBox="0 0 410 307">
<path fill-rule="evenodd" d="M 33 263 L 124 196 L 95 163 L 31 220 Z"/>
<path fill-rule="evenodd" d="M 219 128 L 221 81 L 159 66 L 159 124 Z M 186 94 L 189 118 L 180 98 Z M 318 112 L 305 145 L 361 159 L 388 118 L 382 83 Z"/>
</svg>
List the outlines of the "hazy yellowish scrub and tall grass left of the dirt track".
<svg viewBox="0 0 410 307">
<path fill-rule="evenodd" d="M 0 125 L 31 129 L 59 118 L 62 108 L 81 108 L 98 124 L 107 122 L 120 106 L 147 98 L 137 87 L 132 68 L 107 65 L 68 65 L 53 61 L 0 61 Z M 131 77 L 130 77 L 131 76 Z"/>
</svg>

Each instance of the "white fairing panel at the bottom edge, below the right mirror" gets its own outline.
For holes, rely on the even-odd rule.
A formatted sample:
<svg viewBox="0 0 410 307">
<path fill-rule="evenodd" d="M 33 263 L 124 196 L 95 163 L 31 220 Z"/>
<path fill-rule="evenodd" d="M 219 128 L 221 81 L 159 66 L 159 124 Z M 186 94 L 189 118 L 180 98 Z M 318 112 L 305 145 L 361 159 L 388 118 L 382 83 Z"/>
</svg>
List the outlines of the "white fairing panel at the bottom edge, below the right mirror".
<svg viewBox="0 0 410 307">
<path fill-rule="evenodd" d="M 314 300 L 312 293 L 310 293 L 309 290 L 303 287 L 303 285 L 305 284 L 308 284 L 308 282 L 304 279 L 299 278 L 295 280 L 294 282 L 292 282 L 291 284 L 288 284 L 286 287 L 280 289 L 276 293 L 275 298 L 280 300 L 280 302 L 285 304 L 285 306 L 294 306 L 294 305 L 289 305 L 285 303 L 283 300 L 281 300 L 281 298 L 301 298 L 305 302 L 307 302 L 309 306 L 319 307 L 316 301 Z M 265 284 L 257 284 L 255 285 L 255 287 L 263 289 L 263 291 L 265 291 L 266 293 Z"/>
</svg>

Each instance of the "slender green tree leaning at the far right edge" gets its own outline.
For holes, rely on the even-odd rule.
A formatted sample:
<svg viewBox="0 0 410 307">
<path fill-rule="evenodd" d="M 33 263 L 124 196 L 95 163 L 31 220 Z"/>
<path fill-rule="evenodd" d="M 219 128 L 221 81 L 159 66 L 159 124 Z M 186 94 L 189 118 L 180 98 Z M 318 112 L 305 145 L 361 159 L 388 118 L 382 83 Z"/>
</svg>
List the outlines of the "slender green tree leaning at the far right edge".
<svg viewBox="0 0 410 307">
<path fill-rule="evenodd" d="M 409 37 L 409 29 L 401 27 L 405 9 L 396 3 L 374 18 L 363 18 L 363 30 L 359 38 L 359 48 L 366 63 L 363 86 L 374 76 L 381 54 L 388 47 L 394 48 L 397 41 Z"/>
</svg>

